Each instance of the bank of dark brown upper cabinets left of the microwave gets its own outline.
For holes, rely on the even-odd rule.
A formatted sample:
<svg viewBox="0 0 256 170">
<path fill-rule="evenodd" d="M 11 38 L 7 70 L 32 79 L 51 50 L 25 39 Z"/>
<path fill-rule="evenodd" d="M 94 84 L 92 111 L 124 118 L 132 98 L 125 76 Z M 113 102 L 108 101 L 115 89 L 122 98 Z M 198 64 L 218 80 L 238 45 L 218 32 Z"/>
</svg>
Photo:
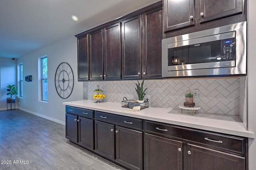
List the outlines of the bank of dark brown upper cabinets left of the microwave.
<svg viewBox="0 0 256 170">
<path fill-rule="evenodd" d="M 159 1 L 76 35 L 78 81 L 162 78 L 162 33 Z"/>
</svg>

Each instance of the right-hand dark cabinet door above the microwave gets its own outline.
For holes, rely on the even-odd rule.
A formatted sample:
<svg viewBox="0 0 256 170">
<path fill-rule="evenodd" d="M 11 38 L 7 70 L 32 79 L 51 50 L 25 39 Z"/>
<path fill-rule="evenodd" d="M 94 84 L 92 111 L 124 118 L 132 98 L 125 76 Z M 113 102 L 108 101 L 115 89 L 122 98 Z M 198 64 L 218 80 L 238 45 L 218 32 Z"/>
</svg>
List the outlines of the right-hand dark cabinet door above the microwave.
<svg viewBox="0 0 256 170">
<path fill-rule="evenodd" d="M 200 23 L 242 13 L 242 0 L 200 0 Z"/>
</svg>

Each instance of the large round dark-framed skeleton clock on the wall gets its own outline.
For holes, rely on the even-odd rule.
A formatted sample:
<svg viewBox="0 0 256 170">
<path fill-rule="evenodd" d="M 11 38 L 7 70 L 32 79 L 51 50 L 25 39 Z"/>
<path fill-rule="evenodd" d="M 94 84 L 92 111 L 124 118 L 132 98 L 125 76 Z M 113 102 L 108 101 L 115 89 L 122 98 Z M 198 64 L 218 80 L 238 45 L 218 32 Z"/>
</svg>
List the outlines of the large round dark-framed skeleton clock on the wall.
<svg viewBox="0 0 256 170">
<path fill-rule="evenodd" d="M 74 74 L 68 63 L 60 63 L 55 73 L 55 87 L 58 95 L 66 99 L 74 87 Z"/>
</svg>

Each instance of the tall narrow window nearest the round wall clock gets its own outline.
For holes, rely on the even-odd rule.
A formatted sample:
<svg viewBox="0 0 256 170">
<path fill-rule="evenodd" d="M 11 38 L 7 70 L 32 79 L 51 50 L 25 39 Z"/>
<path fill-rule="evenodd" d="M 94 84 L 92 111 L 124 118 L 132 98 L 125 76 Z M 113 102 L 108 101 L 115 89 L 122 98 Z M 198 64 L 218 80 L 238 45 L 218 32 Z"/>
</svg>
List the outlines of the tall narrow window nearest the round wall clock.
<svg viewBox="0 0 256 170">
<path fill-rule="evenodd" d="M 47 57 L 41 58 L 42 100 L 48 100 Z"/>
</svg>

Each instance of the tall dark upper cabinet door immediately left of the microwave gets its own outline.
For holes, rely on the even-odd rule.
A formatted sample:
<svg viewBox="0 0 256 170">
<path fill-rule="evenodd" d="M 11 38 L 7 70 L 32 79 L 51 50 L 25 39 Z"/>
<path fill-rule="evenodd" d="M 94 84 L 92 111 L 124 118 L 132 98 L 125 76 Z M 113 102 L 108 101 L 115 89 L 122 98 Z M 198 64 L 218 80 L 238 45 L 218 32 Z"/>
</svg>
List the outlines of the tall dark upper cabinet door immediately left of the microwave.
<svg viewBox="0 0 256 170">
<path fill-rule="evenodd" d="M 142 78 L 162 77 L 162 7 L 146 12 L 143 22 Z"/>
</svg>

